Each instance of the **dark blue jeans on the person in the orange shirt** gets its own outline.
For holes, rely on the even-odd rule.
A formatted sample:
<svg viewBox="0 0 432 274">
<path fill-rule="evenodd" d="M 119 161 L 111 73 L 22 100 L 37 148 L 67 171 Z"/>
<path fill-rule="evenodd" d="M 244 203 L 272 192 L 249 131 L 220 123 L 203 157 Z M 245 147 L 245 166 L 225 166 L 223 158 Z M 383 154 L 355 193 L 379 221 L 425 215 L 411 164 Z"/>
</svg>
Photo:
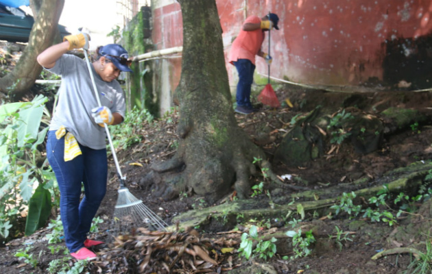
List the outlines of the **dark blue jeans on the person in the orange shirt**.
<svg viewBox="0 0 432 274">
<path fill-rule="evenodd" d="M 254 82 L 255 65 L 248 59 L 239 59 L 233 62 L 239 73 L 239 83 L 237 83 L 236 101 L 237 105 L 252 108 L 250 103 L 250 88 Z"/>
</svg>

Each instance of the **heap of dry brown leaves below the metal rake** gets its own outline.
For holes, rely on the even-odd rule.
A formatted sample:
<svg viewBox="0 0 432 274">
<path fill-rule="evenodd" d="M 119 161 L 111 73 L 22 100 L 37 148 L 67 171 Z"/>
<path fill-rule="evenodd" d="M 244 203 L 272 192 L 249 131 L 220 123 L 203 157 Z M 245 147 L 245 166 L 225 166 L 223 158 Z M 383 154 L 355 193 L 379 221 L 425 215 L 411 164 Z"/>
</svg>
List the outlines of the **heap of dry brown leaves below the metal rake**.
<svg viewBox="0 0 432 274">
<path fill-rule="evenodd" d="M 97 273 L 221 273 L 232 269 L 226 251 L 239 242 L 202 238 L 195 229 L 150 232 L 140 227 L 132 235 L 117 236 L 114 245 L 98 252 L 93 261 Z"/>
</svg>

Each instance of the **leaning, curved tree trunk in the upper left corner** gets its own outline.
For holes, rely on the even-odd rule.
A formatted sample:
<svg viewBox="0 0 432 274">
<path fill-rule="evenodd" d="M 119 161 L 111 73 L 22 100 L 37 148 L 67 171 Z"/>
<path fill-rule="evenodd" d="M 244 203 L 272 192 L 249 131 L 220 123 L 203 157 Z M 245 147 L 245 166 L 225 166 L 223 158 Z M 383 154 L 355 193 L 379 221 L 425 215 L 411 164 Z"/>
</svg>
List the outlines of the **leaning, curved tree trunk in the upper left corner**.
<svg viewBox="0 0 432 274">
<path fill-rule="evenodd" d="M 10 95 L 11 101 L 21 99 L 34 82 L 42 67 L 36 57 L 51 46 L 58 33 L 58 20 L 62 14 L 64 0 L 31 0 L 35 22 L 30 32 L 29 42 L 14 70 L 0 79 L 0 92 Z M 40 9 L 38 9 L 40 7 Z"/>
</svg>

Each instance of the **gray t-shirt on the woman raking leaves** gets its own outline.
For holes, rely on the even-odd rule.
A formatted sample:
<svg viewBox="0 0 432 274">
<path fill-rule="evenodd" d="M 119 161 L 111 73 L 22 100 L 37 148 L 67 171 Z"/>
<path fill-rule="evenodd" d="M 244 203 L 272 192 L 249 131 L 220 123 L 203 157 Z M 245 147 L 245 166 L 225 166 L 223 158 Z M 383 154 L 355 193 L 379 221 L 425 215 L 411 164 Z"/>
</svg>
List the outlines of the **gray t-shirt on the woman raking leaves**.
<svg viewBox="0 0 432 274">
<path fill-rule="evenodd" d="M 124 117 L 125 97 L 119 82 L 104 82 L 96 73 L 93 64 L 91 69 L 101 104 L 110 108 L 112 113 L 118 112 Z M 75 55 L 64 54 L 56 61 L 56 65 L 47 71 L 62 76 L 62 84 L 58 89 L 58 105 L 49 129 L 57 130 L 64 125 L 81 145 L 104 149 L 105 129 L 97 125 L 91 116 L 91 110 L 99 105 L 86 61 Z"/>
</svg>

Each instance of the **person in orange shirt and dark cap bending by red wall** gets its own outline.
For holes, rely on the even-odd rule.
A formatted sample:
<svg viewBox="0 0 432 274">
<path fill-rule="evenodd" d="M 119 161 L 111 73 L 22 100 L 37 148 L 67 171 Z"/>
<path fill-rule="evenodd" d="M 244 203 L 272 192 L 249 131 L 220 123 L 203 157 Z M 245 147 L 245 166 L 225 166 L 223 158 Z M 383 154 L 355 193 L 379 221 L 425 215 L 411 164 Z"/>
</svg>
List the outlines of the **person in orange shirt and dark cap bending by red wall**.
<svg viewBox="0 0 432 274">
<path fill-rule="evenodd" d="M 269 13 L 263 18 L 249 16 L 243 22 L 239 36 L 235 38 L 231 45 L 229 62 L 233 64 L 239 73 L 239 83 L 237 83 L 235 112 L 250 114 L 257 110 L 252 108 L 250 103 L 250 88 L 254 81 L 255 55 L 265 59 L 267 64 L 272 62 L 272 57 L 261 51 L 265 34 L 264 32 L 272 29 L 279 29 L 279 17 L 274 13 Z"/>
</svg>

